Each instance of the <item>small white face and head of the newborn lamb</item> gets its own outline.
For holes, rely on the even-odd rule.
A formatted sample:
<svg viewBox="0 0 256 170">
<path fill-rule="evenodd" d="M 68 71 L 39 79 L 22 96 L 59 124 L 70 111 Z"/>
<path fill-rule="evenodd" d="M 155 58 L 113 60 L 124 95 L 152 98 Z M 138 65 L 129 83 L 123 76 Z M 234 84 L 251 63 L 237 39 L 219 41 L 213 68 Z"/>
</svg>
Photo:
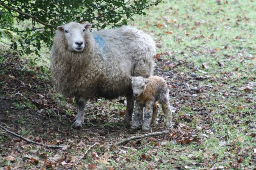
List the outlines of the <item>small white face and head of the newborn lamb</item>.
<svg viewBox="0 0 256 170">
<path fill-rule="evenodd" d="M 135 98 L 140 96 L 145 90 L 146 80 L 143 77 L 132 77 L 132 88 Z"/>
</svg>

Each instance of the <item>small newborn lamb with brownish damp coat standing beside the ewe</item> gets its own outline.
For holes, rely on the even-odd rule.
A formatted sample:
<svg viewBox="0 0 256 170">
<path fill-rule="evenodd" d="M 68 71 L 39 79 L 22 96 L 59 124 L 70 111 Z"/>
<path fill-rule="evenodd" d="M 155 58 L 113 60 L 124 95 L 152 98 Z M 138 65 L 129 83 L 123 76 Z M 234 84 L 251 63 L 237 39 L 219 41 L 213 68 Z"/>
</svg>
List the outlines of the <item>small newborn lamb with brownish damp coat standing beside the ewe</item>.
<svg viewBox="0 0 256 170">
<path fill-rule="evenodd" d="M 131 129 L 138 129 L 142 123 L 142 130 L 150 129 L 150 123 L 157 124 L 158 105 L 162 105 L 165 114 L 165 125 L 167 128 L 172 127 L 172 110 L 169 104 L 169 89 L 165 80 L 158 76 L 151 76 L 148 79 L 143 77 L 132 77 L 132 88 L 136 98 L 135 110 L 132 118 Z M 141 121 L 141 112 L 144 116 Z M 151 121 L 152 120 L 152 121 Z"/>
</svg>

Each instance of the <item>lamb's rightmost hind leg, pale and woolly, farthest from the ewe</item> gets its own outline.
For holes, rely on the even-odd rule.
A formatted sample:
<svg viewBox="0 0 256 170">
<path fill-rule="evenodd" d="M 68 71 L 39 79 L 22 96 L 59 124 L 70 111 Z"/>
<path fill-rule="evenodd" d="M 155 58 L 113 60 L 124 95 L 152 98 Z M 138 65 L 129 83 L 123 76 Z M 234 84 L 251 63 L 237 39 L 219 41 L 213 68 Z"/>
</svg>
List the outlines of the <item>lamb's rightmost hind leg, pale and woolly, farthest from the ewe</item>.
<svg viewBox="0 0 256 170">
<path fill-rule="evenodd" d="M 165 115 L 165 126 L 167 128 L 172 128 L 172 122 L 173 122 L 173 118 L 172 118 L 172 110 L 170 110 L 170 104 L 169 104 L 169 97 L 168 94 L 166 94 L 166 98 L 164 98 L 164 100 L 161 102 L 162 108 L 163 108 L 163 112 Z"/>
</svg>

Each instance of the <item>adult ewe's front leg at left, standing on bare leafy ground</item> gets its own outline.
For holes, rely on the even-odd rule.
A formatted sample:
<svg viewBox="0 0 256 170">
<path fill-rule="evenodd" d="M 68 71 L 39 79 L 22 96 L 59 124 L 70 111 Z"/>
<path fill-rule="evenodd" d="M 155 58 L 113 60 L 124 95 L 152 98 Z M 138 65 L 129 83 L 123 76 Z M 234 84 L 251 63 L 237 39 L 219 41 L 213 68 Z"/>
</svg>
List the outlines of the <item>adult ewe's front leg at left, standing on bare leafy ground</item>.
<svg viewBox="0 0 256 170">
<path fill-rule="evenodd" d="M 84 108 L 86 107 L 87 99 L 80 97 L 77 101 L 78 111 L 75 117 L 73 128 L 81 128 L 84 118 Z"/>
</svg>

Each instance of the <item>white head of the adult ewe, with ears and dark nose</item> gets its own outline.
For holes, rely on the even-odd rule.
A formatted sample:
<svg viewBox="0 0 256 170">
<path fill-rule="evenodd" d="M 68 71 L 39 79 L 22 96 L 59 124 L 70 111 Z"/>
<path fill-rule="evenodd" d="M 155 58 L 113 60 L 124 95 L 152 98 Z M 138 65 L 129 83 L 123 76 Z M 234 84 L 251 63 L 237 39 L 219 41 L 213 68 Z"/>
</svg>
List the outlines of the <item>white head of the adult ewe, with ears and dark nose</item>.
<svg viewBox="0 0 256 170">
<path fill-rule="evenodd" d="M 91 27 L 91 23 L 81 25 L 77 22 L 70 22 L 65 26 L 58 26 L 57 29 L 65 34 L 69 51 L 81 52 L 85 45 L 84 33 Z"/>
</svg>

